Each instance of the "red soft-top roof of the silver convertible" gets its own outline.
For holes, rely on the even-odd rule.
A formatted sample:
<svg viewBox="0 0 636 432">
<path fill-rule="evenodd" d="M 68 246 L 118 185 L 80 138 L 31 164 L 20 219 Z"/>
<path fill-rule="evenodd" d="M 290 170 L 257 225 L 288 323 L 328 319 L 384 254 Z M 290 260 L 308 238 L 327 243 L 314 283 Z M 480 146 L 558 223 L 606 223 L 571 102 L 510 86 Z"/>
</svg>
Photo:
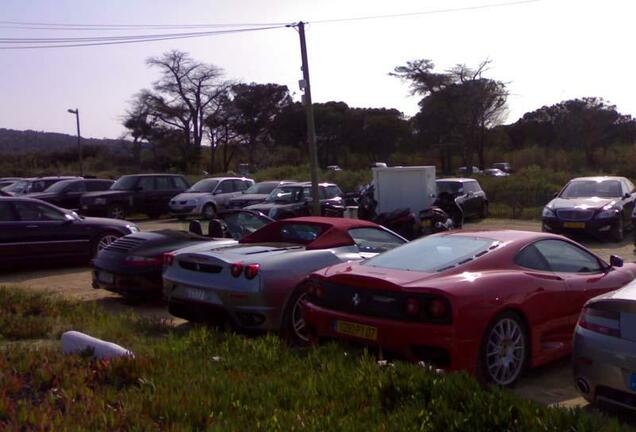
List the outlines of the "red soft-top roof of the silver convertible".
<svg viewBox="0 0 636 432">
<path fill-rule="evenodd" d="M 283 219 L 243 237 L 239 243 L 281 243 L 281 228 L 290 223 L 316 225 L 322 228 L 321 234 L 305 244 L 306 249 L 328 249 L 332 247 L 353 246 L 355 242 L 348 231 L 352 228 L 380 228 L 376 223 L 349 218 L 333 218 L 323 216 L 306 216 Z"/>
</svg>

